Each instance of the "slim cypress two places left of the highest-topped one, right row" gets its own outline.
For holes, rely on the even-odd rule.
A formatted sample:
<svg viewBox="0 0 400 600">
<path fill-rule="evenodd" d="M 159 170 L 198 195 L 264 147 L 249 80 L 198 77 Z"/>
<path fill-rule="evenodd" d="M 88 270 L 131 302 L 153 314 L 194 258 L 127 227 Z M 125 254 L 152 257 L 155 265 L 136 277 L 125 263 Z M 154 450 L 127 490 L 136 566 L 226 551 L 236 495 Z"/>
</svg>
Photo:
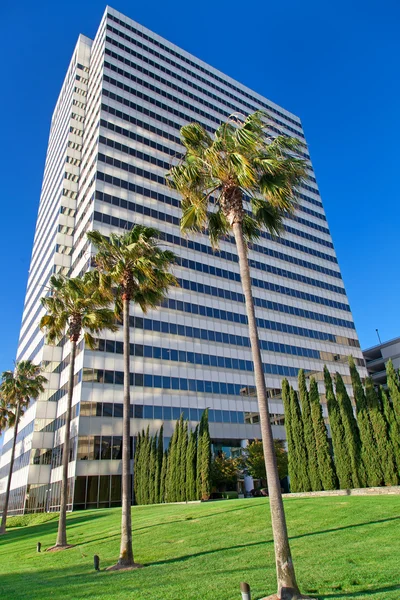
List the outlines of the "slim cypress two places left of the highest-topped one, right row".
<svg viewBox="0 0 400 600">
<path fill-rule="evenodd" d="M 339 479 L 339 488 L 346 490 L 353 485 L 351 463 L 348 460 L 346 436 L 339 404 L 333 391 L 332 377 L 326 365 L 324 366 L 324 382 L 336 474 Z"/>
</svg>

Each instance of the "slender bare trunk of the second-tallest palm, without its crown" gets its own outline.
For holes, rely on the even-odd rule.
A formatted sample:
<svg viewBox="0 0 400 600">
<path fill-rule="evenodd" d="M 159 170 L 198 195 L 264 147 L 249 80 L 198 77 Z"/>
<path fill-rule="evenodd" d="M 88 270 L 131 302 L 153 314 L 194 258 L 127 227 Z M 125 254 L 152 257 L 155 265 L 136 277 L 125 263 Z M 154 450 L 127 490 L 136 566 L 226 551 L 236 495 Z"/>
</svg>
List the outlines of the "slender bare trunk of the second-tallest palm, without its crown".
<svg viewBox="0 0 400 600">
<path fill-rule="evenodd" d="M 124 318 L 124 410 L 122 433 L 122 523 L 121 547 L 118 564 L 121 567 L 134 565 L 132 549 L 131 518 L 131 418 L 130 418 L 130 340 L 129 340 L 129 298 L 123 298 Z"/>
</svg>

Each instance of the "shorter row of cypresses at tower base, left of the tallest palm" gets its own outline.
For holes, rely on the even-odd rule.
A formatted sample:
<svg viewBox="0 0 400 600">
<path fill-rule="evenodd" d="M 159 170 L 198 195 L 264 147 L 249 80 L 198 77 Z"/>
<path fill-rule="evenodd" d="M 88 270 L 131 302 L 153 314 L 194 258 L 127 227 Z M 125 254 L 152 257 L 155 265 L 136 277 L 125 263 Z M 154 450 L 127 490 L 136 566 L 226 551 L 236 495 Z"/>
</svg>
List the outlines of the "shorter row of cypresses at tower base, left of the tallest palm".
<svg viewBox="0 0 400 600">
<path fill-rule="evenodd" d="M 151 436 L 149 428 L 137 437 L 134 455 L 136 504 L 208 500 L 211 492 L 211 440 L 208 410 L 194 431 L 183 415 L 176 422 L 164 452 L 163 427 Z"/>
</svg>

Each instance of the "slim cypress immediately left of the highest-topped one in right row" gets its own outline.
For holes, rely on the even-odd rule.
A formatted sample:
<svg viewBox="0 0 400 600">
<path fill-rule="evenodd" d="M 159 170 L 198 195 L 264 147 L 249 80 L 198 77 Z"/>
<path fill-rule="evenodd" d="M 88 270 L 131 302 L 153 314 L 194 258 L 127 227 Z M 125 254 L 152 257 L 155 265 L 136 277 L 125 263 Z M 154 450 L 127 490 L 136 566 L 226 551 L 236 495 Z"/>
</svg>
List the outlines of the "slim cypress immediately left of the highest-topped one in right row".
<svg viewBox="0 0 400 600">
<path fill-rule="evenodd" d="M 345 441 L 347 444 L 348 460 L 350 461 L 350 472 L 353 485 L 360 488 L 365 486 L 365 469 L 361 459 L 361 438 L 358 424 L 354 416 L 353 406 L 347 393 L 346 386 L 340 373 L 335 375 L 336 399 L 339 404 L 340 415 L 344 428 Z"/>
</svg>

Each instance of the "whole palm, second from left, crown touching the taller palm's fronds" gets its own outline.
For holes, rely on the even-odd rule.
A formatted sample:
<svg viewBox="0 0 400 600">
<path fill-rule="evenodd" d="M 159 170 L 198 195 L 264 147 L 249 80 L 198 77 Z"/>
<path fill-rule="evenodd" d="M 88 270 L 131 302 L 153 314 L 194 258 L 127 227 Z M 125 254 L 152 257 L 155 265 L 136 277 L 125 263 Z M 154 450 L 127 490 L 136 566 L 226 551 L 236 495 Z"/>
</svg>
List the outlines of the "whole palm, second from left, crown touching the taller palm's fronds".
<svg viewBox="0 0 400 600">
<path fill-rule="evenodd" d="M 84 341 L 89 348 L 96 347 L 92 334 L 104 329 L 116 331 L 115 316 L 109 308 L 111 296 L 99 288 L 98 273 L 88 272 L 83 277 L 67 278 L 53 275 L 50 278 L 50 296 L 42 298 L 46 314 L 40 320 L 40 328 L 47 331 L 47 341 L 52 344 L 67 336 L 71 343 L 67 412 L 65 418 L 64 447 L 62 455 L 62 481 L 60 519 L 57 541 L 54 548 L 68 548 L 67 543 L 67 493 L 68 463 L 70 453 L 70 426 L 72 395 L 74 391 L 75 358 L 77 343 L 84 332 Z"/>
</svg>

